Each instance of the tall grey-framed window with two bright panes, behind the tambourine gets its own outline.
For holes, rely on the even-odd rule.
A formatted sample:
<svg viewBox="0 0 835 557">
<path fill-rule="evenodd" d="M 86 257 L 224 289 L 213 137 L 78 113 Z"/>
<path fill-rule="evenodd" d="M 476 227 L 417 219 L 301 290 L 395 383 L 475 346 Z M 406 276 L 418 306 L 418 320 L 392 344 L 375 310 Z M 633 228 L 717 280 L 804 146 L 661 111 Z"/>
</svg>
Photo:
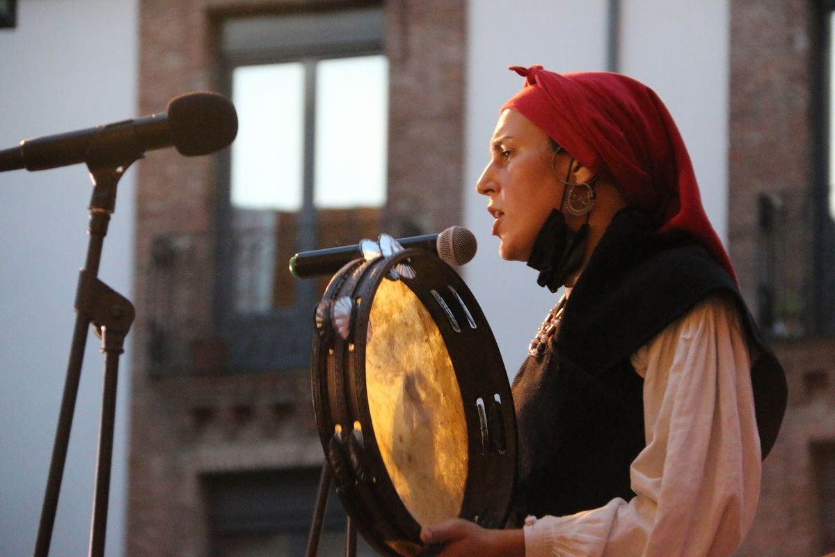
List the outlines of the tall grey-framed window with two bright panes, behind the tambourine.
<svg viewBox="0 0 835 557">
<path fill-rule="evenodd" d="M 378 234 L 386 204 L 382 8 L 230 19 L 221 48 L 239 133 L 220 201 L 217 323 L 228 367 L 306 368 L 321 281 L 296 251 Z"/>
</svg>

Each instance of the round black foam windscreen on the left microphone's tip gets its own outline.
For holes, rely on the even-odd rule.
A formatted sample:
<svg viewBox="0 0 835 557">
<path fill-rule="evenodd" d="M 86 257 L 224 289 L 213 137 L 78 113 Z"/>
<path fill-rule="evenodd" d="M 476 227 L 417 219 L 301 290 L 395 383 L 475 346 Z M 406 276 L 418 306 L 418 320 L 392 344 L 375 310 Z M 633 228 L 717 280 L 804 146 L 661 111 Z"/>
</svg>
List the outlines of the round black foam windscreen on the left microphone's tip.
<svg viewBox="0 0 835 557">
<path fill-rule="evenodd" d="M 210 154 L 235 139 L 238 114 L 222 94 L 186 93 L 170 100 L 168 127 L 171 143 L 180 154 Z"/>
</svg>

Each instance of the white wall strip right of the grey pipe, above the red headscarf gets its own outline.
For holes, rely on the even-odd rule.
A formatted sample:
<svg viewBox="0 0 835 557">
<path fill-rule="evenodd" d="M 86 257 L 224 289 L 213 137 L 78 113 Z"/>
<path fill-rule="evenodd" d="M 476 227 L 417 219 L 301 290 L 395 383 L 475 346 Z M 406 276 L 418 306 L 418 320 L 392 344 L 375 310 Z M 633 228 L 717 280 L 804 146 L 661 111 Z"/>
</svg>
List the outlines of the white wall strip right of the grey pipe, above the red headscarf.
<svg viewBox="0 0 835 557">
<path fill-rule="evenodd" d="M 723 241 L 730 22 L 728 0 L 621 0 L 620 71 L 655 89 L 670 110 Z"/>
</svg>

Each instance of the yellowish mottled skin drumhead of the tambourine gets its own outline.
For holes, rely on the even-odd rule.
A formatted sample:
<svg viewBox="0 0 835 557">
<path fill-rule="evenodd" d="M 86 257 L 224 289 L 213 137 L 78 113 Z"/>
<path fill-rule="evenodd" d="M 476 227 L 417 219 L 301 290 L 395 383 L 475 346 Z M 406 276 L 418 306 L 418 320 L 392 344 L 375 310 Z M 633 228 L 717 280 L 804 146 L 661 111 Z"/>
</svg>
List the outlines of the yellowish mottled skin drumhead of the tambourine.
<svg viewBox="0 0 835 557">
<path fill-rule="evenodd" d="M 461 512 L 467 423 L 453 362 L 432 316 L 402 281 L 382 281 L 368 323 L 366 387 L 389 478 L 419 524 Z"/>
</svg>

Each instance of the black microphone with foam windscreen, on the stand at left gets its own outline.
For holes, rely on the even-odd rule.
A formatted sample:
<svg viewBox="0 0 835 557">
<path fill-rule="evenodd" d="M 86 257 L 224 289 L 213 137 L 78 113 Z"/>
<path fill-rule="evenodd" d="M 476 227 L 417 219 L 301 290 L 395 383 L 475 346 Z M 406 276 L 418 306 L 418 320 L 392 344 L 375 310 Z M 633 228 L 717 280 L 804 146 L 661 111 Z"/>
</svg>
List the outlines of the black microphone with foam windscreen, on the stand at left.
<svg viewBox="0 0 835 557">
<path fill-rule="evenodd" d="M 238 115 L 229 99 L 186 93 L 171 99 L 167 112 L 24 139 L 18 147 L 0 150 L 0 172 L 46 170 L 89 162 L 93 156 L 98 162 L 133 162 L 145 151 L 172 145 L 185 156 L 210 154 L 232 143 L 237 133 Z"/>
</svg>

